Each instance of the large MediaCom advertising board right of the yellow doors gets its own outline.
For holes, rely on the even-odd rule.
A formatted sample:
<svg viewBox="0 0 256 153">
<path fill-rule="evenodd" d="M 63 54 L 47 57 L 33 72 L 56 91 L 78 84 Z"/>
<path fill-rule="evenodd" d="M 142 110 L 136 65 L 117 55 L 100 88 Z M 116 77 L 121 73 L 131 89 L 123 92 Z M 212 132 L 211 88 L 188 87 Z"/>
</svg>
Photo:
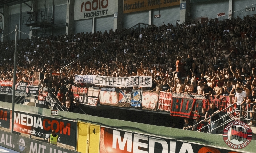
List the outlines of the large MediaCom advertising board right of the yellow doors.
<svg viewBox="0 0 256 153">
<path fill-rule="evenodd" d="M 216 147 L 205 147 L 200 144 L 180 142 L 171 139 L 136 134 L 106 127 L 100 128 L 100 153 L 131 153 L 131 152 L 197 152 L 197 153 L 231 153 L 230 150 Z M 238 153 L 232 151 L 232 153 Z"/>
</svg>

